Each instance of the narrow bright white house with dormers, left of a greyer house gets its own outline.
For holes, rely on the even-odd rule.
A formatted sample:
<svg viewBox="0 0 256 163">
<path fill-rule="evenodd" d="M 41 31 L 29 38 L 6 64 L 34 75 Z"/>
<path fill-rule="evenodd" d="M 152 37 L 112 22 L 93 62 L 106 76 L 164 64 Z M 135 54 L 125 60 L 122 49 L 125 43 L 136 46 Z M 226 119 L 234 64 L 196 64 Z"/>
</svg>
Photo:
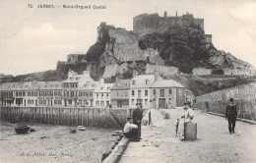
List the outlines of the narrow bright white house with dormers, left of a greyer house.
<svg viewBox="0 0 256 163">
<path fill-rule="evenodd" d="M 94 99 L 96 107 L 108 107 L 110 104 L 110 88 L 114 83 L 104 83 L 104 79 L 100 79 L 96 85 Z"/>
</svg>

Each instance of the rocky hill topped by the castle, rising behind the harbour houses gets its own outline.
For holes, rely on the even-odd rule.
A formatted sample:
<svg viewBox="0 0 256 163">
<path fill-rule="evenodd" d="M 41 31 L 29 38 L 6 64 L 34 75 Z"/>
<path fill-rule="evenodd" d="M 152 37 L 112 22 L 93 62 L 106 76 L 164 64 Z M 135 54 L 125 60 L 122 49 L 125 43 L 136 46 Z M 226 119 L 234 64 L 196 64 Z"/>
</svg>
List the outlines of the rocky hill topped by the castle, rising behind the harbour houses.
<svg viewBox="0 0 256 163">
<path fill-rule="evenodd" d="M 147 15 L 143 15 L 145 16 Z M 60 61 L 55 71 L 3 77 L 1 81 L 62 81 L 67 78 L 69 69 L 78 73 L 90 71 L 95 80 L 103 77 L 115 81 L 116 77 L 132 78 L 134 71 L 145 74 L 147 64 L 176 67 L 183 74 L 191 74 L 194 68 L 213 69 L 217 72 L 222 69 L 245 71 L 254 69 L 250 64 L 235 58 L 230 53 L 218 50 L 212 43 L 212 35 L 205 34 L 204 20 L 194 19 L 191 14 L 179 18 L 154 15 L 154 18 L 159 26 L 147 22 L 153 21 L 152 19 L 136 17 L 133 31 L 101 23 L 96 28 L 96 43 L 91 46 L 83 59 L 80 55 L 79 61 L 76 61 L 79 57 L 72 54 L 70 56 L 72 63 Z M 165 24 L 164 20 L 168 22 Z M 141 24 L 140 21 L 143 23 Z M 143 31 L 143 34 L 140 31 Z M 237 77 L 238 80 L 228 78 L 230 82 L 217 82 L 213 79 L 206 82 L 205 79 L 188 75 L 166 78 L 184 82 L 195 91 L 195 94 L 250 81 Z M 222 80 L 226 81 L 226 79 Z"/>
</svg>

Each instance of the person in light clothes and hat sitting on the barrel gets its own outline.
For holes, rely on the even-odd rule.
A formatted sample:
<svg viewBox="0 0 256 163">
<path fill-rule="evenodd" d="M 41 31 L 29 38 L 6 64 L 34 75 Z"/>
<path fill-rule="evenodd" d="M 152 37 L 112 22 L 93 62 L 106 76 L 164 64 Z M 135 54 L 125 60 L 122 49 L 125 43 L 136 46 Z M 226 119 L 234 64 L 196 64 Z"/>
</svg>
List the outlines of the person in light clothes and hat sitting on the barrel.
<svg viewBox="0 0 256 163">
<path fill-rule="evenodd" d="M 194 119 L 194 111 L 191 109 L 191 102 L 186 101 L 184 102 L 183 107 L 185 113 L 181 118 L 184 118 L 184 121 L 178 121 L 178 136 L 184 136 L 184 125 L 185 123 L 192 122 Z"/>
</svg>

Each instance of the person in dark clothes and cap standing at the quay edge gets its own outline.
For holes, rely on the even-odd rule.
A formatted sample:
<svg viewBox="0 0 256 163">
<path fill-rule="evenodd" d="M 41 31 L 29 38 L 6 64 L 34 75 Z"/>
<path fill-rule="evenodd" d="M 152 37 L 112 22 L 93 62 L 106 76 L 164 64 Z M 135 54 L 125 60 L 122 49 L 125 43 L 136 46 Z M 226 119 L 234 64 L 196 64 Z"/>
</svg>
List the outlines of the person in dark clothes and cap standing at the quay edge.
<svg viewBox="0 0 256 163">
<path fill-rule="evenodd" d="M 136 109 L 133 111 L 133 123 L 138 126 L 137 138 L 141 138 L 141 127 L 142 127 L 142 118 L 143 112 L 141 108 L 141 103 L 136 104 Z"/>
</svg>

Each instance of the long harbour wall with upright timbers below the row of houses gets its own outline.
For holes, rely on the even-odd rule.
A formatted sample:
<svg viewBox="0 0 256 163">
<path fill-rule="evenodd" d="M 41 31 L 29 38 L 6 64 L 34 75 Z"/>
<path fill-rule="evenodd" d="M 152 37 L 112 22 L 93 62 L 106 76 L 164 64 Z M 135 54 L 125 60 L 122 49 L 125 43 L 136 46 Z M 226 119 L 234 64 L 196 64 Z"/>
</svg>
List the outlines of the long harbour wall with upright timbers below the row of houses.
<svg viewBox="0 0 256 163">
<path fill-rule="evenodd" d="M 105 128 L 122 128 L 132 110 L 0 106 L 1 120 Z"/>
</svg>

